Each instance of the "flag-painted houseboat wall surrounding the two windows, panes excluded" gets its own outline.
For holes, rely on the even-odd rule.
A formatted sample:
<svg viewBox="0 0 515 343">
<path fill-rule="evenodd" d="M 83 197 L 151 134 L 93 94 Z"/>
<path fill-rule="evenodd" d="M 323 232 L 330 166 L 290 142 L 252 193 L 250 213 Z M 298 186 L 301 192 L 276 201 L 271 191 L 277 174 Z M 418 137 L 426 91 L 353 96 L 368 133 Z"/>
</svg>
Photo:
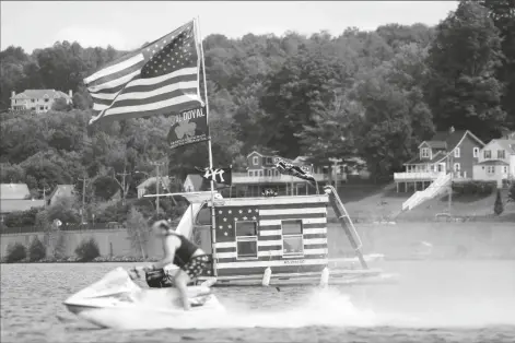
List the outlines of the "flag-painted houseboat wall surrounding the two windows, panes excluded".
<svg viewBox="0 0 515 343">
<path fill-rule="evenodd" d="M 216 206 L 216 273 L 219 276 L 262 274 L 270 267 L 273 273 L 318 272 L 328 263 L 327 198 L 291 197 L 233 199 Z M 300 199 L 304 198 L 304 199 Z M 256 237 L 239 237 L 238 221 L 257 223 Z M 302 252 L 284 249 L 283 221 L 302 222 Z M 297 235 L 300 236 L 300 235 Z M 254 239 L 257 256 L 238 257 L 238 241 Z"/>
</svg>

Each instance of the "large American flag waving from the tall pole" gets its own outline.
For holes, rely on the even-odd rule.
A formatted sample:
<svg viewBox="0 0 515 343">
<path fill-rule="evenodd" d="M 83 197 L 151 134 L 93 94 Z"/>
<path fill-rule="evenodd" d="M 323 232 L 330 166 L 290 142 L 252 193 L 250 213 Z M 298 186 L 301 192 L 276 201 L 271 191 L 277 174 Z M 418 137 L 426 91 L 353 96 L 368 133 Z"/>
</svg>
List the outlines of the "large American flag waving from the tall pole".
<svg viewBox="0 0 515 343">
<path fill-rule="evenodd" d="M 195 22 L 84 79 L 97 120 L 174 114 L 202 105 Z"/>
</svg>

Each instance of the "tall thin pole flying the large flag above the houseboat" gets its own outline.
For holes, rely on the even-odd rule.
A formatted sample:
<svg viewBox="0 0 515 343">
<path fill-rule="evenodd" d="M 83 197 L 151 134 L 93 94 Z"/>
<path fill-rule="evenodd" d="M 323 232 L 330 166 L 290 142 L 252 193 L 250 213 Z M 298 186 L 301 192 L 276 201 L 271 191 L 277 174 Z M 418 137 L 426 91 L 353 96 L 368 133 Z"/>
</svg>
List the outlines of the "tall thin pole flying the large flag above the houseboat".
<svg viewBox="0 0 515 343">
<path fill-rule="evenodd" d="M 209 128 L 209 99 L 208 99 L 208 83 L 206 82 L 206 63 L 203 58 L 203 42 L 202 36 L 200 34 L 200 17 L 197 15 L 197 20 L 195 21 L 197 27 L 197 38 L 200 43 L 200 55 L 202 61 L 202 79 L 203 79 L 203 97 L 206 102 L 206 121 Z M 211 132 L 208 138 L 208 154 L 209 154 L 209 168 L 213 169 L 213 152 L 211 149 Z M 216 276 L 216 221 L 215 221 L 215 212 L 214 212 L 214 180 L 211 180 L 211 247 L 212 247 L 212 255 L 213 255 L 213 274 Z"/>
</svg>

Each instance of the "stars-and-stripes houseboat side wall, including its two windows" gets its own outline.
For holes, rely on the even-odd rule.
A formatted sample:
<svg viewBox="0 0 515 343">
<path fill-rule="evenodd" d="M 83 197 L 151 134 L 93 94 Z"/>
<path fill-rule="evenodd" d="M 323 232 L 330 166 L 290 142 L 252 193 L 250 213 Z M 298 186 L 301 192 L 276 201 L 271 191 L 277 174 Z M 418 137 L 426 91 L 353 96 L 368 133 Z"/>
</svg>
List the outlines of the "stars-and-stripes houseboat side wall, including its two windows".
<svg viewBox="0 0 515 343">
<path fill-rule="evenodd" d="M 279 200 L 264 199 L 270 202 Z M 218 274 L 260 274 L 267 267 L 271 267 L 273 272 L 297 271 L 300 268 L 305 271 L 324 269 L 328 257 L 326 204 L 218 206 L 214 244 Z M 291 235 L 291 227 L 295 226 L 302 229 Z M 295 243 L 301 243 L 297 253 L 292 250 L 292 247 L 299 248 Z M 242 256 L 242 251 L 250 253 Z M 304 262 L 302 265 L 289 264 L 292 259 Z"/>
</svg>

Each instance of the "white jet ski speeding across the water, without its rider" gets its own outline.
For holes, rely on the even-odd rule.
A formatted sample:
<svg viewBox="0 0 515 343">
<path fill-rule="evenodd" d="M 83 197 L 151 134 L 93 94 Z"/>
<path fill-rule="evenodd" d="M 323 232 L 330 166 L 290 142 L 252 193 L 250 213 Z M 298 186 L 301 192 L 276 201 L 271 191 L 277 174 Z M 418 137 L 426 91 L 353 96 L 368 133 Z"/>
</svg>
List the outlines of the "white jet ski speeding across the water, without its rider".
<svg viewBox="0 0 515 343">
<path fill-rule="evenodd" d="M 173 284 L 142 288 L 122 268 L 108 272 L 98 282 L 63 301 L 67 309 L 95 326 L 112 329 L 190 329 L 224 312 L 211 285 L 214 277 L 188 286 L 191 308 L 185 311 Z M 148 275 L 147 275 L 148 279 Z M 149 281 L 148 281 L 149 283 Z"/>
</svg>

